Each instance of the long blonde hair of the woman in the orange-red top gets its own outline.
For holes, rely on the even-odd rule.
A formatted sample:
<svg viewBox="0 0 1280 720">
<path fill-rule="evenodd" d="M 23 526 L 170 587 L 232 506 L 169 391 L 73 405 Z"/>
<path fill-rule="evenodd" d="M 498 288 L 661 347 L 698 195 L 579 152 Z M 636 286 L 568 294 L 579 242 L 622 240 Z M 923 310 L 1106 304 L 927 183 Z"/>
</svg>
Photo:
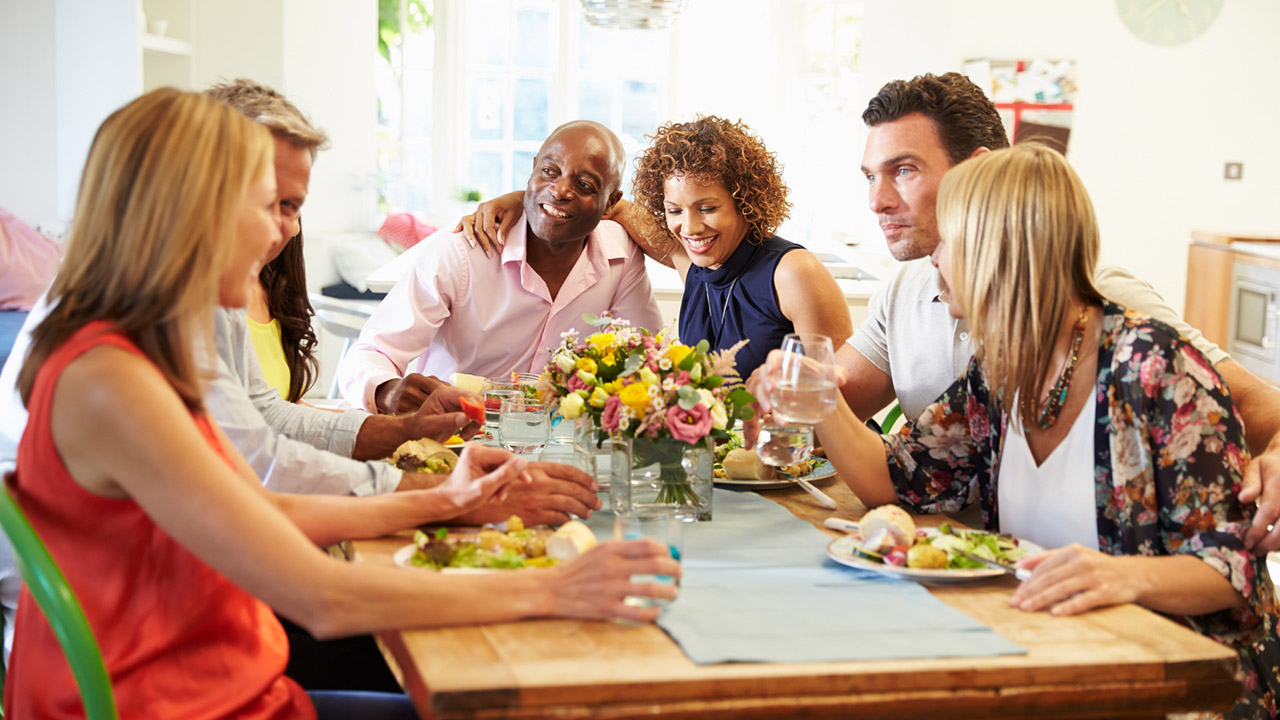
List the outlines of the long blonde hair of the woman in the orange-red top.
<svg viewBox="0 0 1280 720">
<path fill-rule="evenodd" d="M 18 377 L 23 402 L 50 352 L 84 324 L 108 320 L 188 407 L 202 407 L 195 348 L 211 352 L 237 217 L 271 152 L 266 128 L 196 92 L 155 90 L 102 123 L 49 291 L 52 310 Z"/>
</svg>

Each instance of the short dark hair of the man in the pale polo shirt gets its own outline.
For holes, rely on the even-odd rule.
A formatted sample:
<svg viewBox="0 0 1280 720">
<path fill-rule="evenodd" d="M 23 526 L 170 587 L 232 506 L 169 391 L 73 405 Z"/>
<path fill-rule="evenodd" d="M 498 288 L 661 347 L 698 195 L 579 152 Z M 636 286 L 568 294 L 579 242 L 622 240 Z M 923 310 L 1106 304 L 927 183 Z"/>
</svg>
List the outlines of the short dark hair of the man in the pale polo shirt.
<svg viewBox="0 0 1280 720">
<path fill-rule="evenodd" d="M 925 73 L 911 79 L 895 79 L 867 104 L 863 122 L 867 127 L 876 127 L 913 113 L 933 120 L 952 164 L 959 164 L 979 147 L 1009 147 L 1009 136 L 996 104 L 960 73 Z"/>
</svg>

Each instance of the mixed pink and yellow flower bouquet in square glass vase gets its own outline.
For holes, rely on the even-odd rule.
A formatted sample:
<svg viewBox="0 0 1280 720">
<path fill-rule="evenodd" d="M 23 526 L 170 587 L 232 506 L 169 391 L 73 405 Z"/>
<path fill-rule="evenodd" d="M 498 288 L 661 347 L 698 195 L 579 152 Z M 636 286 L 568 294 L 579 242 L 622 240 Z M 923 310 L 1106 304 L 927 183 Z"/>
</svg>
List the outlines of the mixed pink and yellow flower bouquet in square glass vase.
<svg viewBox="0 0 1280 720">
<path fill-rule="evenodd" d="M 735 368 L 741 343 L 710 352 L 707 341 L 692 347 L 669 342 L 663 337 L 669 333 L 650 336 L 608 315 L 584 320 L 598 331 L 585 340 L 576 331 L 562 336 L 539 393 L 558 402 L 566 419 L 588 420 L 596 447 L 613 438 L 616 511 L 652 500 L 648 505 L 709 519 L 712 442 L 727 438 L 735 420 L 750 418 L 755 401 Z M 626 487 L 617 487 L 620 480 Z M 654 496 L 639 497 L 644 488 Z"/>
</svg>

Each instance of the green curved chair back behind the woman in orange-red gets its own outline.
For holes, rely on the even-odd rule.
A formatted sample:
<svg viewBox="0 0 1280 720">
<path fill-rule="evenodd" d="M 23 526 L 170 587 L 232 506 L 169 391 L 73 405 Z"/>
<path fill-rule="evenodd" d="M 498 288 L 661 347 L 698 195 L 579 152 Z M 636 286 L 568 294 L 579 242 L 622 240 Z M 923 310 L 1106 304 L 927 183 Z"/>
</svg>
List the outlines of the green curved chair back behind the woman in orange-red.
<svg viewBox="0 0 1280 720">
<path fill-rule="evenodd" d="M 93 630 L 84 620 L 84 611 L 67 584 L 63 571 L 58 569 L 58 564 L 45 550 L 45 543 L 40 541 L 40 536 L 9 493 L 12 478 L 13 475 L 6 473 L 4 488 L 0 488 L 3 489 L 0 527 L 13 543 L 18 570 L 31 596 L 36 598 L 36 605 L 49 619 L 63 652 L 67 653 L 67 661 L 79 685 L 84 715 L 88 720 L 114 720 L 116 714 L 111 678 L 106 674 L 102 653 L 97 648 L 97 641 L 93 639 Z"/>
</svg>

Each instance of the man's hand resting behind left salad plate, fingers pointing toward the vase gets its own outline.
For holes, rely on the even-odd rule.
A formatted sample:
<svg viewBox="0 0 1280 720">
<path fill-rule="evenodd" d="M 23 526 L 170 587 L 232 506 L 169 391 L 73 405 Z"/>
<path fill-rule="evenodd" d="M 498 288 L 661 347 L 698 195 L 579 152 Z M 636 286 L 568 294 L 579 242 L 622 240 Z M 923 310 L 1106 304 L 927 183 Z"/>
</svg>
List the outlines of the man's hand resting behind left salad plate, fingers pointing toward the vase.
<svg viewBox="0 0 1280 720">
<path fill-rule="evenodd" d="M 530 462 L 524 477 L 526 482 L 507 486 L 500 497 L 456 521 L 483 525 L 520 515 L 526 525 L 558 525 L 600 509 L 595 480 L 572 465 Z"/>
</svg>

